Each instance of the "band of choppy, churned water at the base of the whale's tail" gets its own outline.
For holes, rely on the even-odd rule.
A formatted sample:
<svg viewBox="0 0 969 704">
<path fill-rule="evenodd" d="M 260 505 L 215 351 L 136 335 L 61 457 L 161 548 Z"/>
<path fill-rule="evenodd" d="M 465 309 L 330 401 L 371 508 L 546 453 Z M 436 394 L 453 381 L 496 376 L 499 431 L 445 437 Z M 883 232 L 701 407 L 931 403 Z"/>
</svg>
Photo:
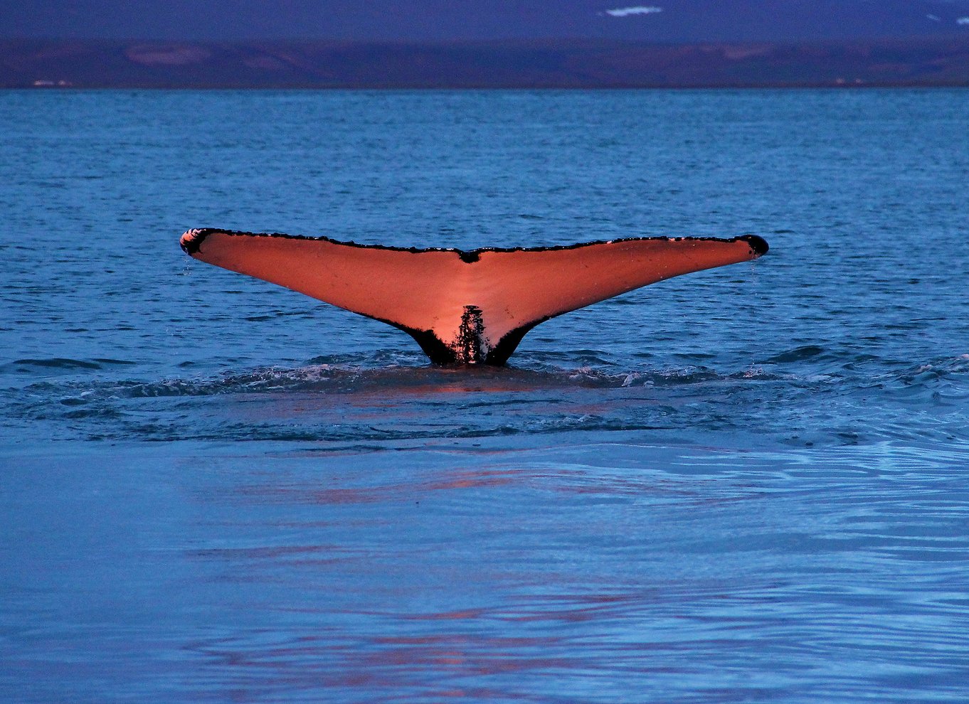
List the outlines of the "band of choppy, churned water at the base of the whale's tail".
<svg viewBox="0 0 969 704">
<path fill-rule="evenodd" d="M 525 355 L 519 367 L 504 369 L 406 364 L 414 360 L 383 352 L 354 361 L 317 357 L 298 367 L 158 381 L 112 380 L 116 372 L 106 378 L 106 369 L 127 366 L 117 360 L 57 361 L 58 375 L 101 378 L 53 376 L 11 387 L 3 398 L 22 422 L 68 423 L 70 431 L 61 425 L 55 437 L 102 440 L 388 441 L 684 427 L 701 434 L 756 429 L 762 442 L 795 445 L 966 437 L 964 355 L 871 376 L 797 373 L 786 363 L 725 373 L 709 366 L 622 370 L 582 356 L 563 367 L 561 359 Z M 878 408 L 868 406 L 871 393 L 883 399 Z M 822 398 L 838 410 L 828 422 L 808 414 Z"/>
</svg>

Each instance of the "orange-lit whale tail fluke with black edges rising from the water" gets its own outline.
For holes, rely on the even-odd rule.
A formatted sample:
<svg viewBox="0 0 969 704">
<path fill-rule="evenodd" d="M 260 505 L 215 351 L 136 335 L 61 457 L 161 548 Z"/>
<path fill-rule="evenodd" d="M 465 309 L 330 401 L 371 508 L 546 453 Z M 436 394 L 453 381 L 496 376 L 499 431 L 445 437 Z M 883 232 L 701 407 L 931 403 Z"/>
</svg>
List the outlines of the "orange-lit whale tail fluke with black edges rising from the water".
<svg viewBox="0 0 969 704">
<path fill-rule="evenodd" d="M 181 247 L 197 260 L 387 322 L 439 364 L 504 364 L 525 333 L 549 318 L 767 251 L 755 234 L 462 251 L 212 229 L 188 230 Z"/>
</svg>

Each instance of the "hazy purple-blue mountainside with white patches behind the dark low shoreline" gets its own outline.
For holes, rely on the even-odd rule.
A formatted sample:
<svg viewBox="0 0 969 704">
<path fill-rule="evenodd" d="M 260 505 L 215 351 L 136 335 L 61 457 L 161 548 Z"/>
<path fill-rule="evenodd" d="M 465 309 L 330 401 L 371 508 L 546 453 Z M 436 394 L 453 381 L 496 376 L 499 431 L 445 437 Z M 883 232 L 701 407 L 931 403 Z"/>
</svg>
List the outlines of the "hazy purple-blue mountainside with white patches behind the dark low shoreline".
<svg viewBox="0 0 969 704">
<path fill-rule="evenodd" d="M 650 42 L 969 36 L 969 0 L 19 0 L 7 39 Z"/>
</svg>

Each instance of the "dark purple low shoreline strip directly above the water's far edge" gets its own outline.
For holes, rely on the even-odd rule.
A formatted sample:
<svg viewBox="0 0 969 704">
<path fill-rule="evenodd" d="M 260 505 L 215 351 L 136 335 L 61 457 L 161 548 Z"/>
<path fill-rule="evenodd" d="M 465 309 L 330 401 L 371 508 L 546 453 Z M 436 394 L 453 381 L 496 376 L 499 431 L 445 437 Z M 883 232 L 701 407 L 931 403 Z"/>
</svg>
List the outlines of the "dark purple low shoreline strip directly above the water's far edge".
<svg viewBox="0 0 969 704">
<path fill-rule="evenodd" d="M 0 40 L 0 88 L 828 86 L 969 86 L 969 33 L 689 45 Z"/>
</svg>

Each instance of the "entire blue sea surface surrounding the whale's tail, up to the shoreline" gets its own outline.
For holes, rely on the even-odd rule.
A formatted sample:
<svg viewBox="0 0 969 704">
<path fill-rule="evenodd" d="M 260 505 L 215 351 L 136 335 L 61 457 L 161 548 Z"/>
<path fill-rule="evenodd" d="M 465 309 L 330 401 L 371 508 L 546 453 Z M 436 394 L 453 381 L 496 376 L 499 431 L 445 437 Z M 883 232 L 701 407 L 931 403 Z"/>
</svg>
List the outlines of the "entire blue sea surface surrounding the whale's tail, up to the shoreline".
<svg viewBox="0 0 969 704">
<path fill-rule="evenodd" d="M 964 702 L 969 94 L 0 93 L 0 700 Z M 735 236 L 507 369 L 189 260 Z"/>
</svg>

